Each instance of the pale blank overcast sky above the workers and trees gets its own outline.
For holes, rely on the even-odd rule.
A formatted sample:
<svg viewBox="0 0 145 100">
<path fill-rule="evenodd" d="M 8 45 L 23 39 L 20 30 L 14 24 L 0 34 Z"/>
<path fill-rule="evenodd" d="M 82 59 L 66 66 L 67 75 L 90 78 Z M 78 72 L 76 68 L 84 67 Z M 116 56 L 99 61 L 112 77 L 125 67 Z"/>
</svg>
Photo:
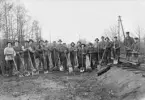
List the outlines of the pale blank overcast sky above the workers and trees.
<svg viewBox="0 0 145 100">
<path fill-rule="evenodd" d="M 21 0 L 42 26 L 43 38 L 94 41 L 122 16 L 125 31 L 145 26 L 144 0 Z"/>
</svg>

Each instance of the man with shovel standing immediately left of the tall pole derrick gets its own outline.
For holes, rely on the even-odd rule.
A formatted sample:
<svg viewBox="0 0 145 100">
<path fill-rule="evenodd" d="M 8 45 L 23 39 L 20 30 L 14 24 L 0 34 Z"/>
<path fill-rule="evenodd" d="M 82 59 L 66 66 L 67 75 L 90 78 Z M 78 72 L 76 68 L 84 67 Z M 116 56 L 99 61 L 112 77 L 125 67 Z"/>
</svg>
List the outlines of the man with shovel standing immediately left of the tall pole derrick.
<svg viewBox="0 0 145 100">
<path fill-rule="evenodd" d="M 120 56 L 120 42 L 117 39 L 117 36 L 114 37 L 112 52 L 113 52 L 113 58 L 114 59 L 117 59 L 119 61 L 119 56 Z"/>
</svg>

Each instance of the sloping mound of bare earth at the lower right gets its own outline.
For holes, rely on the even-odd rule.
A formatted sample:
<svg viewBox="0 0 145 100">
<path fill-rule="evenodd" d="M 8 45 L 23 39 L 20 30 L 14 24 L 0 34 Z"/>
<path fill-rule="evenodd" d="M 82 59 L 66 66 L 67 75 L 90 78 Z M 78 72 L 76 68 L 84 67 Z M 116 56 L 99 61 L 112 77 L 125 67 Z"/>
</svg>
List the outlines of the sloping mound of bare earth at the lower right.
<svg viewBox="0 0 145 100">
<path fill-rule="evenodd" d="M 115 91 L 117 100 L 145 100 L 145 78 L 121 68 L 111 68 L 98 81 Z"/>
</svg>

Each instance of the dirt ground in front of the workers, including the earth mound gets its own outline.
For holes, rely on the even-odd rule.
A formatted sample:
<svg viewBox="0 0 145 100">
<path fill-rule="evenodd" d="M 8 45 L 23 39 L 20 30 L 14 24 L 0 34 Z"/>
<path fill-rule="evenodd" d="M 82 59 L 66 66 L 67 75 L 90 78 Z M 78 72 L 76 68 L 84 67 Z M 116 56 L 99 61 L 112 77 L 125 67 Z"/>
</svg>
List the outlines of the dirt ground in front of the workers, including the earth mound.
<svg viewBox="0 0 145 100">
<path fill-rule="evenodd" d="M 145 100 L 145 78 L 116 67 L 102 76 L 50 72 L 0 79 L 0 100 Z"/>
</svg>

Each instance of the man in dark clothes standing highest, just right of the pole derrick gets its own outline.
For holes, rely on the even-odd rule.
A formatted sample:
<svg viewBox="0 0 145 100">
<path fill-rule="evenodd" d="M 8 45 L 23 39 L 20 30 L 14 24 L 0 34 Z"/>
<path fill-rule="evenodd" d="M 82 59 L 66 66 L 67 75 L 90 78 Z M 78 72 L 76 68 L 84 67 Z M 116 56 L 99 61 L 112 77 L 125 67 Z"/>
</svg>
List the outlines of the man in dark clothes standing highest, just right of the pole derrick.
<svg viewBox="0 0 145 100">
<path fill-rule="evenodd" d="M 126 38 L 124 39 L 124 46 L 125 46 L 125 50 L 126 50 L 126 58 L 127 60 L 129 60 L 130 56 L 131 56 L 131 46 L 134 43 L 134 39 L 132 37 L 130 37 L 129 32 L 126 32 Z"/>
</svg>

